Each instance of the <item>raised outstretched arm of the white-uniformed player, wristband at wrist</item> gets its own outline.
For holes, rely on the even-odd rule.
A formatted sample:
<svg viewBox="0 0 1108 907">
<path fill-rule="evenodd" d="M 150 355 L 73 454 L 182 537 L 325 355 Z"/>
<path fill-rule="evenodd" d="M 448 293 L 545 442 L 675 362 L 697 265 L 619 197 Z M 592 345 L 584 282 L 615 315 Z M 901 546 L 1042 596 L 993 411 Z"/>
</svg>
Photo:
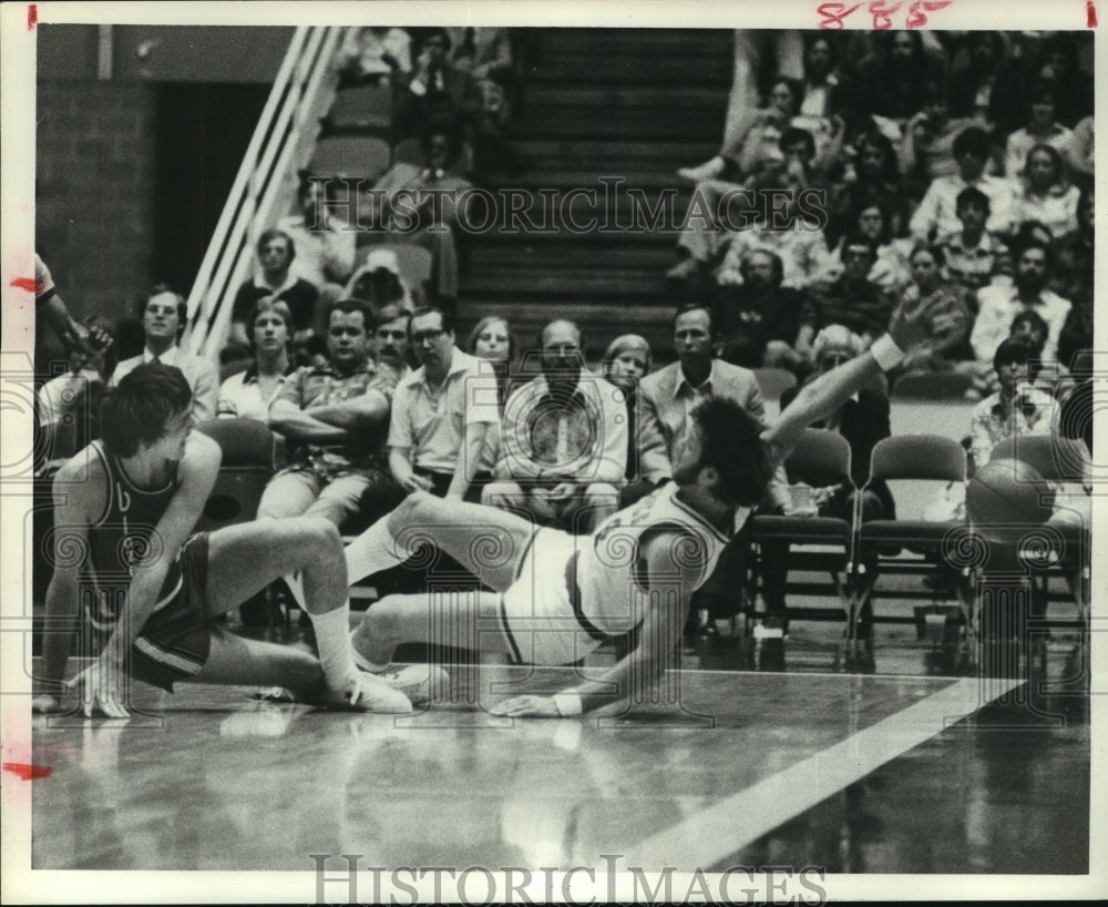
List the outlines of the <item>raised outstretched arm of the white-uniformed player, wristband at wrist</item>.
<svg viewBox="0 0 1108 907">
<path fill-rule="evenodd" d="M 961 315 L 953 300 L 937 305 L 925 299 L 901 303 L 893 312 L 888 334 L 862 355 L 804 385 L 762 438 L 783 459 L 808 426 L 833 414 L 879 374 L 899 366 L 906 355 L 926 355 L 941 348 L 960 325 Z"/>
</svg>

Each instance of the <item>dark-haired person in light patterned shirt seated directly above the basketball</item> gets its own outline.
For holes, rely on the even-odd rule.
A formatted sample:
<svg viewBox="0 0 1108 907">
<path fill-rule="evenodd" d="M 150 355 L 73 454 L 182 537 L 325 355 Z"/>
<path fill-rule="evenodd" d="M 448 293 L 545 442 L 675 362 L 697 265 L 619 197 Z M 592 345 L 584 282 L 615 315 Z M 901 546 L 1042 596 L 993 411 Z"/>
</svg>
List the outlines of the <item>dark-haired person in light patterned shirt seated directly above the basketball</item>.
<svg viewBox="0 0 1108 907">
<path fill-rule="evenodd" d="M 1048 435 L 1054 398 L 1034 386 L 1035 349 L 1023 338 L 1005 337 L 993 355 L 1001 389 L 970 416 L 970 452 L 975 466 L 988 462 L 993 448 L 1014 435 Z"/>
</svg>

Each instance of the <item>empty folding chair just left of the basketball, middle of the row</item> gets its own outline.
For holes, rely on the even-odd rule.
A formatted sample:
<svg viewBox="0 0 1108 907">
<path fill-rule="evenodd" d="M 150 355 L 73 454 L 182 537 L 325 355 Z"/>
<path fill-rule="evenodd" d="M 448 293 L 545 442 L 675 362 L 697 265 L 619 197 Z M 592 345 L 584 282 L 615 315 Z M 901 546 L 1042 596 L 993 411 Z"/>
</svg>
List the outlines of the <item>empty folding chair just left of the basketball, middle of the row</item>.
<svg viewBox="0 0 1108 907">
<path fill-rule="evenodd" d="M 925 480 L 934 482 L 966 481 L 966 451 L 952 438 L 937 435 L 895 435 L 879 441 L 870 458 L 870 476 L 862 486 L 864 492 L 875 481 Z M 861 501 L 861 495 L 858 500 Z M 847 626 L 848 650 L 856 645 L 860 618 L 872 610 L 873 589 L 882 573 L 927 575 L 943 562 L 952 539 L 964 532 L 962 520 L 933 522 L 921 518 L 870 520 L 861 522 L 855 510 L 855 583 Z M 904 559 L 902 551 L 923 554 Z M 868 571 L 866 563 L 873 565 Z M 966 628 L 966 642 L 974 633 L 973 603 L 967 571 L 961 570 L 955 593 Z"/>
</svg>

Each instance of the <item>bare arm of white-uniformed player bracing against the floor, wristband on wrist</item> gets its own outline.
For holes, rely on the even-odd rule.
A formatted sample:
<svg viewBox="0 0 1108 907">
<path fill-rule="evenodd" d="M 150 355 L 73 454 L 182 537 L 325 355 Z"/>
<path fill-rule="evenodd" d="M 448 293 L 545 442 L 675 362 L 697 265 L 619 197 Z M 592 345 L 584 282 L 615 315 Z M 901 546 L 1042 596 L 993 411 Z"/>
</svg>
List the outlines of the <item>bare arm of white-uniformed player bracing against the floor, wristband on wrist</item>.
<svg viewBox="0 0 1108 907">
<path fill-rule="evenodd" d="M 648 564 L 645 593 L 634 598 L 632 613 L 642 618 L 638 645 L 601 674 L 552 696 L 513 696 L 491 711 L 514 717 L 568 717 L 608 705 L 634 706 L 656 700 L 663 674 L 677 665 L 689 599 L 700 575 L 695 563 L 679 563 L 674 537 L 657 536 L 644 552 Z M 629 578 L 628 578 L 629 579 Z"/>
</svg>

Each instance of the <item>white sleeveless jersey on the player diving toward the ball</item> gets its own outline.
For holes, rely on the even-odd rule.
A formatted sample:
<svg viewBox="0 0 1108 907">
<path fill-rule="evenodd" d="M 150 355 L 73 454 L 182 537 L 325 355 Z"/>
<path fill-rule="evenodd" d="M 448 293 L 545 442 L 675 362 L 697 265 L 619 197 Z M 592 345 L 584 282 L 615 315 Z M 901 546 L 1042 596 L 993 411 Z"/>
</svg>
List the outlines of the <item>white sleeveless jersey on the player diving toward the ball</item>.
<svg viewBox="0 0 1108 907">
<path fill-rule="evenodd" d="M 605 520 L 592 536 L 576 539 L 568 573 L 575 575 L 577 594 L 573 608 L 577 619 L 603 634 L 626 633 L 633 629 L 632 603 L 649 587 L 664 590 L 666 578 L 647 577 L 643 551 L 648 539 L 670 536 L 670 551 L 681 567 L 696 568 L 698 589 L 716 568 L 720 552 L 730 540 L 678 497 L 679 486 L 669 482 Z M 749 508 L 736 514 L 735 526 L 742 526 Z M 674 578 L 676 594 L 683 590 Z"/>
</svg>

